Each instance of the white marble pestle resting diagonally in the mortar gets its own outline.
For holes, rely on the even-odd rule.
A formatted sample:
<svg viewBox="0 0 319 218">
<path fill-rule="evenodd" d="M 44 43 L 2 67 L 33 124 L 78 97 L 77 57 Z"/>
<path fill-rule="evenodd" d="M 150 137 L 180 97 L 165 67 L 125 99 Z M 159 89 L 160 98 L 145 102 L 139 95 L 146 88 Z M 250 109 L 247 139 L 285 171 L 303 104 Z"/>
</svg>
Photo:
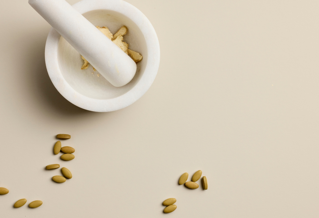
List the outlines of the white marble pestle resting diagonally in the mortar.
<svg viewBox="0 0 319 218">
<path fill-rule="evenodd" d="M 136 63 L 65 0 L 29 4 L 112 85 L 132 80 Z"/>
</svg>

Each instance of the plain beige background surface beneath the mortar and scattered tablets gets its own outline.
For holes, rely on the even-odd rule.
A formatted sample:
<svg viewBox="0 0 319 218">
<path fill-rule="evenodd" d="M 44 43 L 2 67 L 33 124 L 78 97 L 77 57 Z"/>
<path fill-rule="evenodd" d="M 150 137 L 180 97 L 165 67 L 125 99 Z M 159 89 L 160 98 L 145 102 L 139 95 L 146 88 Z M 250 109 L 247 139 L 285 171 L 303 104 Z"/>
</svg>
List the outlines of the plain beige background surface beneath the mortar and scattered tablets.
<svg viewBox="0 0 319 218">
<path fill-rule="evenodd" d="M 0 216 L 319 217 L 318 1 L 128 2 L 158 34 L 159 72 L 133 105 L 94 113 L 51 83 L 50 25 L 1 1 Z M 74 160 L 53 155 L 58 133 Z M 73 178 L 52 182 L 55 163 Z M 177 185 L 199 169 L 208 190 Z"/>
</svg>

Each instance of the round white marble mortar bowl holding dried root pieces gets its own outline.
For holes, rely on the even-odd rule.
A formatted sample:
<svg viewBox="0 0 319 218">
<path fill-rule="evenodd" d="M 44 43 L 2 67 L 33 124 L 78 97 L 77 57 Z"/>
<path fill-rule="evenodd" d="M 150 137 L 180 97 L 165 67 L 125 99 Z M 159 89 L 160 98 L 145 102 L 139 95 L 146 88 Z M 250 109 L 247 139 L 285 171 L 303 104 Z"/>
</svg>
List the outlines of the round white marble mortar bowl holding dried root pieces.
<svg viewBox="0 0 319 218">
<path fill-rule="evenodd" d="M 107 26 L 111 33 L 125 25 L 123 36 L 129 49 L 139 52 L 137 71 L 130 83 L 115 87 L 90 65 L 82 70 L 81 55 L 55 29 L 51 29 L 45 47 L 49 77 L 61 95 L 86 110 L 116 111 L 142 97 L 152 85 L 159 68 L 159 41 L 145 15 L 122 0 L 82 0 L 73 5 L 94 26 Z M 93 74 L 92 74 L 93 73 Z"/>
</svg>

